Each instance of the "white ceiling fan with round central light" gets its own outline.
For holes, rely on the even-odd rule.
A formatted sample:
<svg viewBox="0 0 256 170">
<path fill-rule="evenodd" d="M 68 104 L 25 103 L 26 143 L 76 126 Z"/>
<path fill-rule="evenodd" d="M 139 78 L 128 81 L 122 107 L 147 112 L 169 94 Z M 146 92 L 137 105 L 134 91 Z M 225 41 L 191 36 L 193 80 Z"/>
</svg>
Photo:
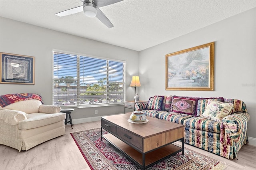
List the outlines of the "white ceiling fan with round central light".
<svg viewBox="0 0 256 170">
<path fill-rule="evenodd" d="M 84 14 L 88 17 L 98 18 L 103 24 L 105 24 L 108 28 L 112 28 L 113 24 L 108 20 L 108 18 L 101 12 L 99 9 L 102 6 L 107 6 L 111 4 L 115 4 L 122 0 L 81 0 L 84 4 L 83 6 L 78 6 L 75 8 L 71 8 L 69 10 L 65 10 L 62 12 L 58 12 L 57 16 L 67 16 L 71 14 L 76 14 L 78 12 L 84 11 Z"/>
</svg>

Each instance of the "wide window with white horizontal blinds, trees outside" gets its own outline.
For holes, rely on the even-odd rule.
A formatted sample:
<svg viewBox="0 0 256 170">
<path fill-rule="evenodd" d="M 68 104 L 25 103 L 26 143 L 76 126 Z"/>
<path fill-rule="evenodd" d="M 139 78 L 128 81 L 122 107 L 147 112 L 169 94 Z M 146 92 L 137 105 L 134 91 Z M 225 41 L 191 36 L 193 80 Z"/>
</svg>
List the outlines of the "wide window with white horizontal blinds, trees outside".
<svg viewBox="0 0 256 170">
<path fill-rule="evenodd" d="M 125 62 L 53 51 L 54 105 L 123 103 Z"/>
</svg>

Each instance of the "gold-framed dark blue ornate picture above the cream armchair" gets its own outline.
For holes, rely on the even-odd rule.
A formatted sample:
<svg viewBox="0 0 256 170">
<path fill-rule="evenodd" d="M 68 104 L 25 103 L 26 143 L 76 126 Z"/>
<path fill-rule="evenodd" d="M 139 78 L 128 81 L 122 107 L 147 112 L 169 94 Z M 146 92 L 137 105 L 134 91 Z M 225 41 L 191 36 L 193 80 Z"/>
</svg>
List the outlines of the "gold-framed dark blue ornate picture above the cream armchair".
<svg viewBox="0 0 256 170">
<path fill-rule="evenodd" d="M 35 57 L 0 52 L 0 83 L 35 84 Z"/>
</svg>

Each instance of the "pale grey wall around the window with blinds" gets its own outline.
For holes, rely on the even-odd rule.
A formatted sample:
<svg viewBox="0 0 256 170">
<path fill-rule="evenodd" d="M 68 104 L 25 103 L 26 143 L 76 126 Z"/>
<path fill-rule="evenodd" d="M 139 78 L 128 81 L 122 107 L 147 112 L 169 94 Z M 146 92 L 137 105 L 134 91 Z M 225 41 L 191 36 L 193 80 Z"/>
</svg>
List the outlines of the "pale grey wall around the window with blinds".
<svg viewBox="0 0 256 170">
<path fill-rule="evenodd" d="M 37 93 L 44 104 L 52 104 L 52 49 L 126 61 L 126 100 L 134 99 L 130 87 L 132 75 L 138 74 L 138 51 L 80 38 L 62 32 L 0 18 L 0 51 L 35 57 L 35 85 L 0 84 L 0 95 Z M 98 115 L 94 110 L 98 109 Z M 76 109 L 72 119 L 123 113 L 124 105 Z"/>
</svg>

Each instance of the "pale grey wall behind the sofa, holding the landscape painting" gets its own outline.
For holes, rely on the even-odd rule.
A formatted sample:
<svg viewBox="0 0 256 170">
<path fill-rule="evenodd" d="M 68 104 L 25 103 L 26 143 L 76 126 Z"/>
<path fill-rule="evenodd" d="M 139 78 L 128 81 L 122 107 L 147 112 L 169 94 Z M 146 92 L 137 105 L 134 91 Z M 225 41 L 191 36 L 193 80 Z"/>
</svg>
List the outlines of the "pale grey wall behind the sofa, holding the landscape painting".
<svg viewBox="0 0 256 170">
<path fill-rule="evenodd" d="M 215 42 L 214 91 L 166 91 L 165 55 L 209 42 Z M 256 138 L 256 8 L 140 51 L 139 55 L 142 100 L 153 95 L 240 99 L 250 114 L 247 134 Z"/>
</svg>

